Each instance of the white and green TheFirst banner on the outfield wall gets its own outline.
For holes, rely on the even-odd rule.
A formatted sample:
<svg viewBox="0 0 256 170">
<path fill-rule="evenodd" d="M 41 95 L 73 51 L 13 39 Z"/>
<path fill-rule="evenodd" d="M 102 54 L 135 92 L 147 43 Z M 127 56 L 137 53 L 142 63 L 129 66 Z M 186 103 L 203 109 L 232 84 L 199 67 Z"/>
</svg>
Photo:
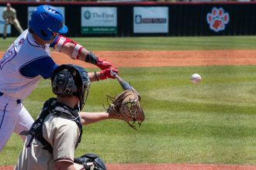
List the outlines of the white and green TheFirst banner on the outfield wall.
<svg viewBox="0 0 256 170">
<path fill-rule="evenodd" d="M 116 7 L 82 7 L 81 34 L 116 34 Z"/>
</svg>

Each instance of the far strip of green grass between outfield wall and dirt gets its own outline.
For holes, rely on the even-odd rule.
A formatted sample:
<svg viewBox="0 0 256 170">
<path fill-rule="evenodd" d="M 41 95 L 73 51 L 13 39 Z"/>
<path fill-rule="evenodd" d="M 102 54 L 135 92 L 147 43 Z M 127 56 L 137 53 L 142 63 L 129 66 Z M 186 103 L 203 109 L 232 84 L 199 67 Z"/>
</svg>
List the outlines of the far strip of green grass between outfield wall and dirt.
<svg viewBox="0 0 256 170">
<path fill-rule="evenodd" d="M 88 50 L 256 49 L 256 36 L 72 38 Z M 0 39 L 5 50 L 14 38 Z"/>
</svg>

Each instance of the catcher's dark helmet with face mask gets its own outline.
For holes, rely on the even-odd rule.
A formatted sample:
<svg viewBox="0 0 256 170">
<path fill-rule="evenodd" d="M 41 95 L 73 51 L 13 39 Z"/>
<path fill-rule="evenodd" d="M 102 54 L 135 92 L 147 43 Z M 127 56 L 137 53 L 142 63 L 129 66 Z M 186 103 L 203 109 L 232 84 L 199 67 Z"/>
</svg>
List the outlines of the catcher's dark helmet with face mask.
<svg viewBox="0 0 256 170">
<path fill-rule="evenodd" d="M 56 95 L 75 96 L 80 100 L 80 110 L 88 97 L 90 80 L 87 71 L 81 66 L 63 64 L 51 76 L 52 90 Z"/>
</svg>

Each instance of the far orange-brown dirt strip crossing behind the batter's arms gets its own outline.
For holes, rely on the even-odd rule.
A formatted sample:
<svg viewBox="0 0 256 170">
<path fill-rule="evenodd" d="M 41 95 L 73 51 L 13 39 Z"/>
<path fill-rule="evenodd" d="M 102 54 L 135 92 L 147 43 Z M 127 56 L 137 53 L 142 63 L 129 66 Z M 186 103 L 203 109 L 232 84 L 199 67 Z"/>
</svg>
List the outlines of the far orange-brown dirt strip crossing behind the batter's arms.
<svg viewBox="0 0 256 170">
<path fill-rule="evenodd" d="M 119 67 L 147 66 L 223 66 L 256 65 L 256 50 L 186 50 L 186 51 L 98 51 L 95 54 Z M 92 68 L 92 64 L 71 60 L 52 53 L 56 63 L 75 63 Z M 66 60 L 68 59 L 68 60 Z"/>
</svg>

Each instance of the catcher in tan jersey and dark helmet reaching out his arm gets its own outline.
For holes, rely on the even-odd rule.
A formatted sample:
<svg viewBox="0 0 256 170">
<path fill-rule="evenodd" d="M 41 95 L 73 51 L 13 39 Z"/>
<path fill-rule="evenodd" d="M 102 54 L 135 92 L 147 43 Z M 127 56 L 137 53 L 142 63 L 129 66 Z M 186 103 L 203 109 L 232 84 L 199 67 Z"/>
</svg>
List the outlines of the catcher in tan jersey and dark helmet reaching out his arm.
<svg viewBox="0 0 256 170">
<path fill-rule="evenodd" d="M 119 117 L 116 108 L 123 107 L 118 107 L 122 105 L 118 100 L 109 106 L 108 112 L 79 112 L 85 105 L 92 81 L 95 80 L 90 80 L 80 66 L 61 65 L 54 70 L 51 85 L 57 98 L 47 100 L 30 130 L 22 132 L 27 137 L 15 169 L 106 169 L 98 155 L 74 158 L 82 125 L 109 118 L 136 120 Z"/>
</svg>

